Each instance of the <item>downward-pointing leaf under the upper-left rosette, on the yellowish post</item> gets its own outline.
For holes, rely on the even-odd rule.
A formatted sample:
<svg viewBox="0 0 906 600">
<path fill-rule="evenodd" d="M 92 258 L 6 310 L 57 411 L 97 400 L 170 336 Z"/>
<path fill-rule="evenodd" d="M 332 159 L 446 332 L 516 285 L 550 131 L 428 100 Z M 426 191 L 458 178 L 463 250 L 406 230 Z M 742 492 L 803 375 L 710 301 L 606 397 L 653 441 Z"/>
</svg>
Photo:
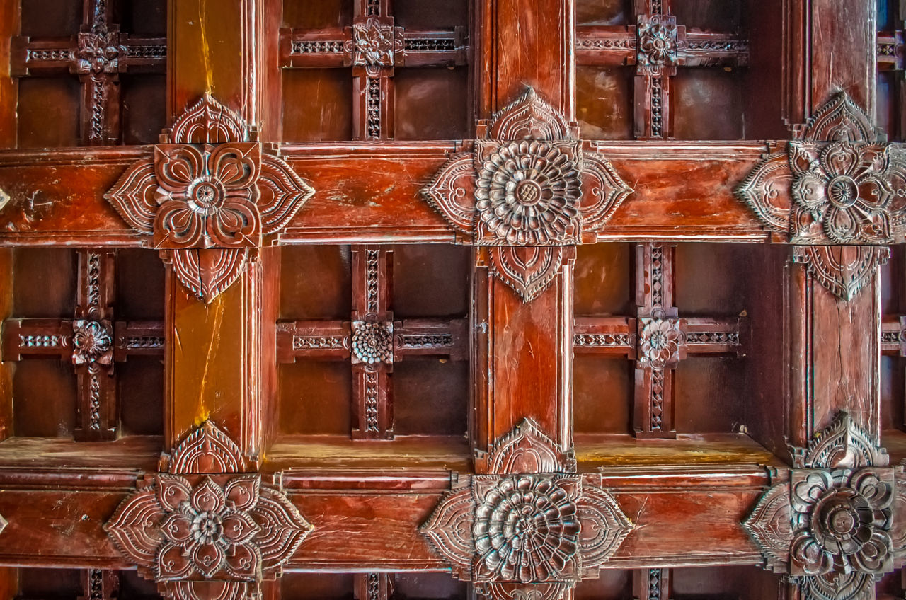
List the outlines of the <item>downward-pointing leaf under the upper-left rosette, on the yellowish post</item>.
<svg viewBox="0 0 906 600">
<path fill-rule="evenodd" d="M 246 268 L 253 248 L 181 248 L 167 250 L 179 282 L 210 303 L 233 285 Z"/>
</svg>

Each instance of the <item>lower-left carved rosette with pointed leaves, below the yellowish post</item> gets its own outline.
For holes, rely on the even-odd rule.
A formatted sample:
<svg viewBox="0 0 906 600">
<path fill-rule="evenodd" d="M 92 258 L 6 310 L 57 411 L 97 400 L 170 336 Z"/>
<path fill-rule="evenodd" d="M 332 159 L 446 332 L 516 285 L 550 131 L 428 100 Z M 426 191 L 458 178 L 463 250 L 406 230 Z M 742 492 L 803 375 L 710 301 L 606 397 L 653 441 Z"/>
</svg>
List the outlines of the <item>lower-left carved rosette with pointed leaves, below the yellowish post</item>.
<svg viewBox="0 0 906 600">
<path fill-rule="evenodd" d="M 236 443 L 207 421 L 161 460 L 104 526 L 142 576 L 174 598 L 249 597 L 312 530 Z"/>
</svg>

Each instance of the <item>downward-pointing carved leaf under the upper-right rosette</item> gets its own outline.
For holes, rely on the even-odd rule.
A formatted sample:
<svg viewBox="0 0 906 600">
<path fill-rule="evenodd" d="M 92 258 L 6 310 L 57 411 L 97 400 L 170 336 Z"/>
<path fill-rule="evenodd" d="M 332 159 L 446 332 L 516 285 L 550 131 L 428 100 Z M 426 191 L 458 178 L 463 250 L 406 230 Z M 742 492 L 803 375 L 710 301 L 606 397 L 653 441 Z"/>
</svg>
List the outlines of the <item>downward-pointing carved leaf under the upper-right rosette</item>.
<svg viewBox="0 0 906 600">
<path fill-rule="evenodd" d="M 877 266 L 891 256 L 879 246 L 794 246 L 793 260 L 807 266 L 815 280 L 849 302 L 871 281 Z"/>
</svg>

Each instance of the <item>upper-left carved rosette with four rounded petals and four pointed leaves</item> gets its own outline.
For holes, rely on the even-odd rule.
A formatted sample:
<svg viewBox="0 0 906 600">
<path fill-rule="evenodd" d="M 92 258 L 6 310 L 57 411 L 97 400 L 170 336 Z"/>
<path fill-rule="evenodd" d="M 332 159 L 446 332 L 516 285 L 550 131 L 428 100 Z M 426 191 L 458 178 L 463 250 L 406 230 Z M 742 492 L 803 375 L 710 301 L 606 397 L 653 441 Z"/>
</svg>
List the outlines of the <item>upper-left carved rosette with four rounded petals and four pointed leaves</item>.
<svg viewBox="0 0 906 600">
<path fill-rule="evenodd" d="M 179 281 L 206 302 L 314 193 L 254 137 L 206 94 L 165 131 L 153 159 L 135 162 L 104 195 L 130 227 L 153 236 Z"/>
</svg>

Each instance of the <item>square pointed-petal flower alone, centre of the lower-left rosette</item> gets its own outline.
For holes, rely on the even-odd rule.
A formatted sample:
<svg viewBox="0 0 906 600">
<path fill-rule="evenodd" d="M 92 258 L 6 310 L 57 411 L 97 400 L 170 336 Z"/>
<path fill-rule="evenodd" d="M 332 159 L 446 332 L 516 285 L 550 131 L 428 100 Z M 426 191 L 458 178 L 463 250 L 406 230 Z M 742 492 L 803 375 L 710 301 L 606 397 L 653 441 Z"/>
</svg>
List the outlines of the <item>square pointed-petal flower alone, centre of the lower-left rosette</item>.
<svg viewBox="0 0 906 600">
<path fill-rule="evenodd" d="M 157 556 L 160 578 L 224 572 L 255 579 L 261 552 L 252 540 L 261 527 L 248 509 L 258 503 L 258 483 L 255 477 L 236 478 L 221 488 L 206 478 L 190 489 L 185 479 L 162 476 L 159 499 L 168 514 L 160 524 L 166 539 Z"/>
</svg>

